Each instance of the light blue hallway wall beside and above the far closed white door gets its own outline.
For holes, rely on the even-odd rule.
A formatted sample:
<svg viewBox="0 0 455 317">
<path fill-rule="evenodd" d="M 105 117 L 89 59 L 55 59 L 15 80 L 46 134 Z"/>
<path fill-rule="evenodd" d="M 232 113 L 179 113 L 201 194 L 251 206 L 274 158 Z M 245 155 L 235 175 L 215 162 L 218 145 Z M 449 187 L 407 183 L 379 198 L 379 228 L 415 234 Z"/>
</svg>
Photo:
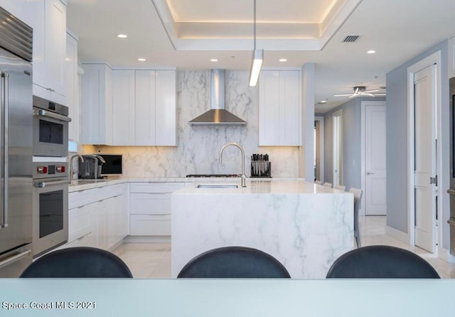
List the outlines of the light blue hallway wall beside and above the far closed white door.
<svg viewBox="0 0 455 317">
<path fill-rule="evenodd" d="M 365 100 L 382 101 L 384 97 L 357 97 L 323 114 L 324 116 L 324 180 L 333 182 L 333 113 L 343 111 L 343 185 L 346 189 L 361 188 L 360 178 L 360 104 Z M 317 115 L 317 114 L 316 114 Z"/>
</svg>

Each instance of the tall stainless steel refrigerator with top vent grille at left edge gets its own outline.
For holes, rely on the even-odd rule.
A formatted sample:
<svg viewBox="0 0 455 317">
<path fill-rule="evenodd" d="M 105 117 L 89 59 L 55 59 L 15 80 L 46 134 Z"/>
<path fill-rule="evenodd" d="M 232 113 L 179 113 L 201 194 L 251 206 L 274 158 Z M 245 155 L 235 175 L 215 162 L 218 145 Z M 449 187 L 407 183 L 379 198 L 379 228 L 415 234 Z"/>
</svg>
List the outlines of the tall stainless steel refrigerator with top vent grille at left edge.
<svg viewBox="0 0 455 317">
<path fill-rule="evenodd" d="M 0 8 L 0 277 L 32 259 L 32 34 Z"/>
</svg>

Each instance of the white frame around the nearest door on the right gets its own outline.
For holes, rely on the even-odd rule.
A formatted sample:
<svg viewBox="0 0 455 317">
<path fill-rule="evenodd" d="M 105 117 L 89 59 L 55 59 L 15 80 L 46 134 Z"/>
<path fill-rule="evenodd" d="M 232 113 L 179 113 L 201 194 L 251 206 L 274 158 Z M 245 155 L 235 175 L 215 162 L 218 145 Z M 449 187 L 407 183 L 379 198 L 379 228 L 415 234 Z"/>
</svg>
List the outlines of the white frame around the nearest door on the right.
<svg viewBox="0 0 455 317">
<path fill-rule="evenodd" d="M 411 246 L 415 245 L 415 195 L 414 195 L 414 73 L 427 68 L 428 66 L 436 64 L 436 75 L 434 80 L 436 80 L 436 118 L 437 118 L 437 140 L 441 140 L 441 51 L 438 50 L 436 53 L 427 56 L 420 60 L 414 65 L 411 65 L 407 68 L 407 121 L 408 121 L 408 130 L 407 130 L 407 162 L 408 162 L 408 171 L 407 171 L 407 238 Z M 437 147 L 437 175 L 441 178 L 441 146 Z M 439 182 L 439 189 L 441 189 Z M 438 195 L 441 195 L 442 190 L 438 190 Z M 437 209 L 439 210 L 438 217 L 438 226 L 437 226 L 437 243 L 438 247 L 441 247 L 441 199 L 437 201 Z"/>
</svg>

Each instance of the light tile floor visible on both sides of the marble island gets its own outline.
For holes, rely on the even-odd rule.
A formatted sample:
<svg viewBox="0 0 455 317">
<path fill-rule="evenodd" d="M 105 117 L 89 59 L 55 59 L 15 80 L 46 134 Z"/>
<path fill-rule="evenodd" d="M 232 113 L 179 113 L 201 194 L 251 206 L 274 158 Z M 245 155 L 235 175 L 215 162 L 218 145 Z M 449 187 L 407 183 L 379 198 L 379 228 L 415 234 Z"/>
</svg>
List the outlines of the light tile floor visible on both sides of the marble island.
<svg viewBox="0 0 455 317">
<path fill-rule="evenodd" d="M 444 262 L 424 249 L 410 247 L 404 242 L 385 235 L 385 216 L 360 216 L 359 222 L 360 240 L 363 246 L 392 245 L 409 249 L 432 264 L 441 278 L 455 278 L 455 264 Z M 124 260 L 131 269 L 134 278 L 171 278 L 170 243 L 124 243 L 114 249 L 113 252 Z"/>
</svg>

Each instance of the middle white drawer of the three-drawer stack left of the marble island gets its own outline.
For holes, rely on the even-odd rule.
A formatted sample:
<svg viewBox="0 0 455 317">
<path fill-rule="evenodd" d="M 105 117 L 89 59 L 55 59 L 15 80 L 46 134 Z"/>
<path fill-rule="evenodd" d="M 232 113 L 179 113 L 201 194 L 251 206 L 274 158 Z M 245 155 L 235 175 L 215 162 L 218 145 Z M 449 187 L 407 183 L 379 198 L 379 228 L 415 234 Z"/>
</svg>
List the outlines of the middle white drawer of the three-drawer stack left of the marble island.
<svg viewBox="0 0 455 317">
<path fill-rule="evenodd" d="M 129 197 L 129 213 L 169 215 L 171 194 L 132 193 Z"/>
</svg>

